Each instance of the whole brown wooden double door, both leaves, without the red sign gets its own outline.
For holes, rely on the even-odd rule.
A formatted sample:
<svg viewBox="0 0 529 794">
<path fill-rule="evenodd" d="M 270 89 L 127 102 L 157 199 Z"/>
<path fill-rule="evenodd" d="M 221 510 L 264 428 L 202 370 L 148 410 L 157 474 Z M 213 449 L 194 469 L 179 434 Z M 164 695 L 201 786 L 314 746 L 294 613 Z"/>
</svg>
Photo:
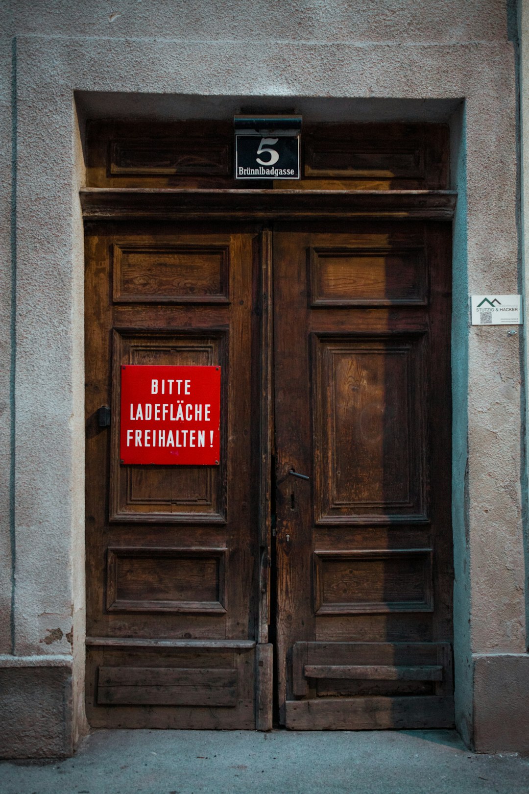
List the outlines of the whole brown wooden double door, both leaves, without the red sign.
<svg viewBox="0 0 529 794">
<path fill-rule="evenodd" d="M 218 466 L 123 364 L 221 367 Z M 86 465 L 92 726 L 453 723 L 447 223 L 88 224 Z"/>
</svg>

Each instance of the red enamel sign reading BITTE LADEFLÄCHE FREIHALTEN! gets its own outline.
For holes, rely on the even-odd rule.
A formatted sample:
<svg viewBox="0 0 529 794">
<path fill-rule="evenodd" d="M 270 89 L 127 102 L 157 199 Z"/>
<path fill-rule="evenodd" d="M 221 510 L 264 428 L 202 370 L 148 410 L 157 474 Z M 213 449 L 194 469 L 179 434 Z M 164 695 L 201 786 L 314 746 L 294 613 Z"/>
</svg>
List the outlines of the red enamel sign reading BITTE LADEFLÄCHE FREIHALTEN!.
<svg viewBox="0 0 529 794">
<path fill-rule="evenodd" d="M 216 465 L 220 367 L 121 367 L 121 463 Z"/>
</svg>

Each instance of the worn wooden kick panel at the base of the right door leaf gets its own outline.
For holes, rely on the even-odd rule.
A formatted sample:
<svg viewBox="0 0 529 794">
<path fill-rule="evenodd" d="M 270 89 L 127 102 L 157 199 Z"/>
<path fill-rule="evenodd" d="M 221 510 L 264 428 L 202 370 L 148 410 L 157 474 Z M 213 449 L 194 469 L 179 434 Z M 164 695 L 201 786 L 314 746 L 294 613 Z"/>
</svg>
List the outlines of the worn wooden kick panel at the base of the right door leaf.
<svg viewBox="0 0 529 794">
<path fill-rule="evenodd" d="M 286 703 L 293 730 L 454 724 L 448 643 L 297 642 L 292 665 L 293 692 L 305 698 Z"/>
</svg>

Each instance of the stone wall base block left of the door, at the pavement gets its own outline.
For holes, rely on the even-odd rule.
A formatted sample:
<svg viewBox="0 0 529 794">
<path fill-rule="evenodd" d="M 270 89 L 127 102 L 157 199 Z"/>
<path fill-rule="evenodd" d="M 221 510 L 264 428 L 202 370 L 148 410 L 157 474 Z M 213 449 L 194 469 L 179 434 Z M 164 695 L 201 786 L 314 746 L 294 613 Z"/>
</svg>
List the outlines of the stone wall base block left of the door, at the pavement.
<svg viewBox="0 0 529 794">
<path fill-rule="evenodd" d="M 71 681 L 67 665 L 0 665 L 0 757 L 73 753 Z"/>
</svg>

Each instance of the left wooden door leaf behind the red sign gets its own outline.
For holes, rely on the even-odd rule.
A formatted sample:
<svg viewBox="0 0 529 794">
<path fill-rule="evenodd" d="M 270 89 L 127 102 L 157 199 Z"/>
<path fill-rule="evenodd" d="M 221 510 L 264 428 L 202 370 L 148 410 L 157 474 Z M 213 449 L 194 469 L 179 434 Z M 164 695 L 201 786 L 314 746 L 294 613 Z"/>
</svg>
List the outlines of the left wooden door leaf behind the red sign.
<svg viewBox="0 0 529 794">
<path fill-rule="evenodd" d="M 87 226 L 86 703 L 94 727 L 255 727 L 258 275 L 251 227 Z M 122 364 L 220 365 L 218 466 L 121 463 Z M 100 426 L 102 406 L 111 408 L 109 427 Z"/>
</svg>

